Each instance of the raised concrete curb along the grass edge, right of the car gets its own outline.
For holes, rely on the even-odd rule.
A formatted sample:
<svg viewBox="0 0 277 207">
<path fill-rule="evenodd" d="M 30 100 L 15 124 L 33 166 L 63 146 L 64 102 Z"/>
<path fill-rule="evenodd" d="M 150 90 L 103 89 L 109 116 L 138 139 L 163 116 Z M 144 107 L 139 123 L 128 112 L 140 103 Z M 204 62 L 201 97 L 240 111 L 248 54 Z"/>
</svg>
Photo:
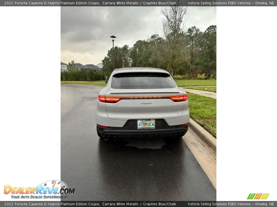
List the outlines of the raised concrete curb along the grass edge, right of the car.
<svg viewBox="0 0 277 207">
<path fill-rule="evenodd" d="M 200 139 L 202 139 L 209 147 L 216 153 L 216 138 L 214 138 L 209 132 L 203 127 L 197 124 L 193 119 L 190 118 L 190 124 L 188 126 L 190 131 L 193 131 Z M 201 141 L 201 140 L 200 140 Z"/>
</svg>

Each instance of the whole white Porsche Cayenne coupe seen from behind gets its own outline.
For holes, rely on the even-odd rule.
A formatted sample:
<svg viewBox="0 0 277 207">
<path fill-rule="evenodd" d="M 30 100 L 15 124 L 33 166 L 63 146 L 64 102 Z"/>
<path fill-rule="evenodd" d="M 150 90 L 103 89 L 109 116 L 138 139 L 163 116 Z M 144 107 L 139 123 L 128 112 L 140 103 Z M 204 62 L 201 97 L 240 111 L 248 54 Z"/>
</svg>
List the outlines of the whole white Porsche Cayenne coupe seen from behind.
<svg viewBox="0 0 277 207">
<path fill-rule="evenodd" d="M 182 137 L 188 131 L 188 95 L 158 68 L 115 69 L 98 95 L 99 137 Z"/>
</svg>

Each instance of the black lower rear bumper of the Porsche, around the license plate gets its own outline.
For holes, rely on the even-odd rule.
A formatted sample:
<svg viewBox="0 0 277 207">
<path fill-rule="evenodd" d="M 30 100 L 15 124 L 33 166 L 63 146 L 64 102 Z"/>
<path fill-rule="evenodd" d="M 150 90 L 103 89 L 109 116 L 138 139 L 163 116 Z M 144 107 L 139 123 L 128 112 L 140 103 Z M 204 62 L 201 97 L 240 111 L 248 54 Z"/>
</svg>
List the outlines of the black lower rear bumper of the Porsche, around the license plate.
<svg viewBox="0 0 277 207">
<path fill-rule="evenodd" d="M 155 129 L 137 129 L 137 120 L 128 120 L 123 127 L 102 128 L 97 125 L 97 130 L 105 138 L 108 136 L 117 136 L 118 138 L 181 137 L 188 131 L 188 125 L 169 126 L 164 119 L 156 119 L 155 125 Z"/>
</svg>

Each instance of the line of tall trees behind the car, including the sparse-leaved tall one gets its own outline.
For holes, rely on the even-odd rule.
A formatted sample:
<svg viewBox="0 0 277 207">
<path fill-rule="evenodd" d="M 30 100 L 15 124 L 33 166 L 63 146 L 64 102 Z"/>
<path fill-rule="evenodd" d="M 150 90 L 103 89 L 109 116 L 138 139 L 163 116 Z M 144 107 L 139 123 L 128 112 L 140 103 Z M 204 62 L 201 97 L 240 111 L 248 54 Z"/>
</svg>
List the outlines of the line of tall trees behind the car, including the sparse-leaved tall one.
<svg viewBox="0 0 277 207">
<path fill-rule="evenodd" d="M 205 31 L 195 26 L 184 30 L 186 12 L 187 7 L 166 7 L 161 10 L 162 37 L 153 34 L 147 40 L 136 41 L 133 47 L 115 46 L 115 68 L 153 67 L 184 79 L 197 78 L 199 74 L 206 79 L 216 78 L 216 25 Z M 102 63 L 104 72 L 113 71 L 113 48 Z"/>
</svg>

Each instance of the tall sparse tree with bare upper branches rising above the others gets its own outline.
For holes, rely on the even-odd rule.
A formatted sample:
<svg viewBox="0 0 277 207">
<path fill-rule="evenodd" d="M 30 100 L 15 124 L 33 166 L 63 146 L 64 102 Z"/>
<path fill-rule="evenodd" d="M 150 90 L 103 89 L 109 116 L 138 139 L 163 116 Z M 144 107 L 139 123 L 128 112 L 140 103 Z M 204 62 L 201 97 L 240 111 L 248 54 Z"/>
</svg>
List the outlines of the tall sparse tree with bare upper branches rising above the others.
<svg viewBox="0 0 277 207">
<path fill-rule="evenodd" d="M 179 4 L 179 3 L 178 3 Z M 162 65 L 168 68 L 171 74 L 175 74 L 184 63 L 188 61 L 188 51 L 186 48 L 186 39 L 183 32 L 183 18 L 187 12 L 187 7 L 170 6 L 161 10 L 164 15 L 162 22 L 162 31 L 164 43 L 157 45 L 156 57 Z"/>
</svg>

